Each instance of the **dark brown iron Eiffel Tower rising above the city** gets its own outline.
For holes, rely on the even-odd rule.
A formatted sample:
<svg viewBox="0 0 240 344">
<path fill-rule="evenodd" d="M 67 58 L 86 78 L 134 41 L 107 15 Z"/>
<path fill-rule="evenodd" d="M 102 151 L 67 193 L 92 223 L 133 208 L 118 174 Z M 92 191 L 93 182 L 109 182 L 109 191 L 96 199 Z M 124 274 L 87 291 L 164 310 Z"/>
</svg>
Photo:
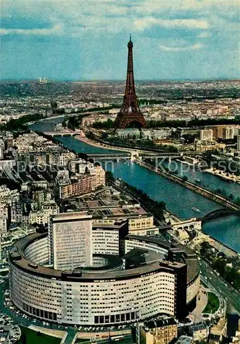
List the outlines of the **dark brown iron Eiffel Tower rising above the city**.
<svg viewBox="0 0 240 344">
<path fill-rule="evenodd" d="M 124 128 L 146 128 L 146 120 L 140 111 L 138 97 L 135 94 L 134 76 L 133 76 L 133 42 L 130 41 L 127 45 L 129 54 L 127 57 L 127 80 L 124 92 L 122 107 L 114 122 L 116 129 Z"/>
</svg>

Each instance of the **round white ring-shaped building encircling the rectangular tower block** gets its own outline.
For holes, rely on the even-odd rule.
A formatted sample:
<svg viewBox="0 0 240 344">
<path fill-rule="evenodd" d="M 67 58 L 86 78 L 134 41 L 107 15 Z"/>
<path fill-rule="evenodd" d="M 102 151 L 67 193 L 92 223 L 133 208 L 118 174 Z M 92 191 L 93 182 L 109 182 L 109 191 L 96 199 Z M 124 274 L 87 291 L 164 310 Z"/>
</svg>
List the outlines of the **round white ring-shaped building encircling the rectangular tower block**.
<svg viewBox="0 0 240 344">
<path fill-rule="evenodd" d="M 128 235 L 122 257 L 94 254 L 91 267 L 56 270 L 44 266 L 47 233 L 34 233 L 10 250 L 12 302 L 36 318 L 68 325 L 131 323 L 160 313 L 182 318 L 196 298 L 199 267 L 191 252 L 184 253 L 185 261 L 168 261 L 176 250 Z"/>
</svg>

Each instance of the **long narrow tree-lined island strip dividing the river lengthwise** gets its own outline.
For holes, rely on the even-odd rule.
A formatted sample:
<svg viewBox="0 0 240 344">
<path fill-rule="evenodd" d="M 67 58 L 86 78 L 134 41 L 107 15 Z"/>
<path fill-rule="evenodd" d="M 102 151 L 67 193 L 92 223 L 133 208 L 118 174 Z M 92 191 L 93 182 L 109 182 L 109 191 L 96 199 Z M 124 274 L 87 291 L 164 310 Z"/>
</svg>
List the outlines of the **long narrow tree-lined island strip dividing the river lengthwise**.
<svg viewBox="0 0 240 344">
<path fill-rule="evenodd" d="M 135 160 L 136 164 L 139 164 L 142 167 L 145 167 L 146 169 L 149 169 L 150 171 L 153 171 L 159 175 L 162 175 L 162 177 L 167 178 L 168 180 L 171 180 L 172 182 L 175 182 L 177 184 L 180 184 L 182 186 L 185 186 L 187 189 L 194 191 L 195 193 L 199 193 L 200 195 L 208 198 L 209 200 L 212 200 L 218 204 L 221 204 L 222 206 L 225 206 L 226 208 L 230 208 L 235 211 L 239 211 L 240 207 L 237 206 L 237 204 L 234 204 L 227 200 L 226 198 L 222 197 L 221 195 L 217 195 L 216 193 L 212 193 L 211 191 L 208 191 L 207 189 L 204 189 L 201 186 L 197 186 L 191 182 L 188 182 L 187 180 L 184 181 L 182 178 L 177 177 L 177 175 L 173 175 L 171 173 L 168 173 L 164 171 L 163 169 L 158 169 L 156 167 L 151 166 L 151 164 L 148 164 L 147 162 L 143 162 L 142 160 Z"/>
</svg>

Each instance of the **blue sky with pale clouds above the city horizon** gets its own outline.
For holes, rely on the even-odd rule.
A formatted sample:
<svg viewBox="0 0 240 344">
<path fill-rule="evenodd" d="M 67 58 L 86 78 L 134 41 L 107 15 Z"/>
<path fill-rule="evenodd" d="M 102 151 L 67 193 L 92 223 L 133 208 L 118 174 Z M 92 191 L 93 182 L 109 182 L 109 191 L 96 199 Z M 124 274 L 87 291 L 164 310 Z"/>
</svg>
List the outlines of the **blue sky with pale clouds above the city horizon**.
<svg viewBox="0 0 240 344">
<path fill-rule="evenodd" d="M 2 0 L 1 79 L 240 78 L 238 0 Z"/>
</svg>

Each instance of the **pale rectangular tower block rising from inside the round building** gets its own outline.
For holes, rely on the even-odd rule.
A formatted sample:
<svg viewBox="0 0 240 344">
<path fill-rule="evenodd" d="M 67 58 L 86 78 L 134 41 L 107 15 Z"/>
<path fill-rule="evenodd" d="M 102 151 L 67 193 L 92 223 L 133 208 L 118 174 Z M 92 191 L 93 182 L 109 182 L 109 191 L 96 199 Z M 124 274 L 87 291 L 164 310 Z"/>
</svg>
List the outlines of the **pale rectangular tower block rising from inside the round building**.
<svg viewBox="0 0 240 344">
<path fill-rule="evenodd" d="M 83 212 L 53 215 L 48 236 L 50 264 L 54 269 L 92 265 L 91 215 Z"/>
</svg>

